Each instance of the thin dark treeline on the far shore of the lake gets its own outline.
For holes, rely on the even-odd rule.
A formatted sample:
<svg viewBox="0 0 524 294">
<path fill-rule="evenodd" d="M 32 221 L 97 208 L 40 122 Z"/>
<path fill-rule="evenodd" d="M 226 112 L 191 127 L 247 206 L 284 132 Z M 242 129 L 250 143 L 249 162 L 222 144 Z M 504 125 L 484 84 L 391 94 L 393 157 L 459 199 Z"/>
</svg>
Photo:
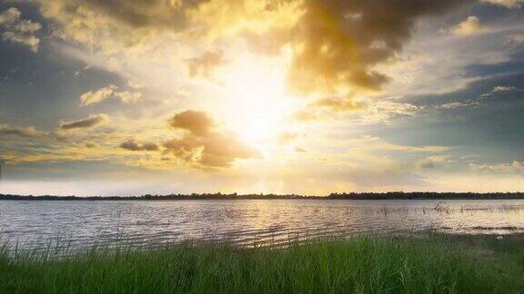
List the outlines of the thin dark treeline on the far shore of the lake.
<svg viewBox="0 0 524 294">
<path fill-rule="evenodd" d="M 0 194 L 0 201 L 187 201 L 187 200 L 524 200 L 524 192 L 506 193 L 438 193 L 438 192 L 385 192 L 385 193 L 331 193 L 328 196 L 295 194 L 170 194 L 142 196 L 55 196 Z"/>
</svg>

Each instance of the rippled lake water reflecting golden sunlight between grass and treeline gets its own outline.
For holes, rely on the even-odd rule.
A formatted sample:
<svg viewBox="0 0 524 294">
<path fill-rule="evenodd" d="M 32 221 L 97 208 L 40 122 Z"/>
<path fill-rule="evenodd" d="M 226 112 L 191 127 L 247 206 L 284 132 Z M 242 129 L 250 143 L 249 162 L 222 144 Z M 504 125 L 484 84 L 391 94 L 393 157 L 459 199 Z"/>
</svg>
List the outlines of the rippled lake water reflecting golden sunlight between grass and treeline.
<svg viewBox="0 0 524 294">
<path fill-rule="evenodd" d="M 0 201 L 0 240 L 25 248 L 224 240 L 284 244 L 325 235 L 524 232 L 524 201 Z"/>
</svg>

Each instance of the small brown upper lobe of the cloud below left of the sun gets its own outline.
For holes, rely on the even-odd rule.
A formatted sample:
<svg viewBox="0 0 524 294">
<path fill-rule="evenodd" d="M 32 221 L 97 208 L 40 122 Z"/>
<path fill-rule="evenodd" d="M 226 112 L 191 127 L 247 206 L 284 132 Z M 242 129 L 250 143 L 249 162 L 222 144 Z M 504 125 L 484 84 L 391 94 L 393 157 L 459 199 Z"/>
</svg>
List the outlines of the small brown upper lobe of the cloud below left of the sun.
<svg viewBox="0 0 524 294">
<path fill-rule="evenodd" d="M 169 120 L 169 125 L 175 129 L 192 132 L 196 136 L 207 136 L 215 128 L 215 122 L 207 113 L 193 110 L 176 113 Z"/>
</svg>

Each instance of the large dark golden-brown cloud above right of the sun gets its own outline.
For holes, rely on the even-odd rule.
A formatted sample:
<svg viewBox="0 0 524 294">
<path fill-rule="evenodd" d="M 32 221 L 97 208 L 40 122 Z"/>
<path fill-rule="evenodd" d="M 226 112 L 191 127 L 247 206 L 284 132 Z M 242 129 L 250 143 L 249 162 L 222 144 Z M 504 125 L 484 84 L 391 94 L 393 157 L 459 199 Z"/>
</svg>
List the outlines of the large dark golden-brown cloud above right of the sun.
<svg viewBox="0 0 524 294">
<path fill-rule="evenodd" d="M 388 77 L 376 65 L 398 54 L 416 19 L 464 2 L 305 1 L 291 37 L 289 87 L 299 94 L 378 91 Z"/>
</svg>

